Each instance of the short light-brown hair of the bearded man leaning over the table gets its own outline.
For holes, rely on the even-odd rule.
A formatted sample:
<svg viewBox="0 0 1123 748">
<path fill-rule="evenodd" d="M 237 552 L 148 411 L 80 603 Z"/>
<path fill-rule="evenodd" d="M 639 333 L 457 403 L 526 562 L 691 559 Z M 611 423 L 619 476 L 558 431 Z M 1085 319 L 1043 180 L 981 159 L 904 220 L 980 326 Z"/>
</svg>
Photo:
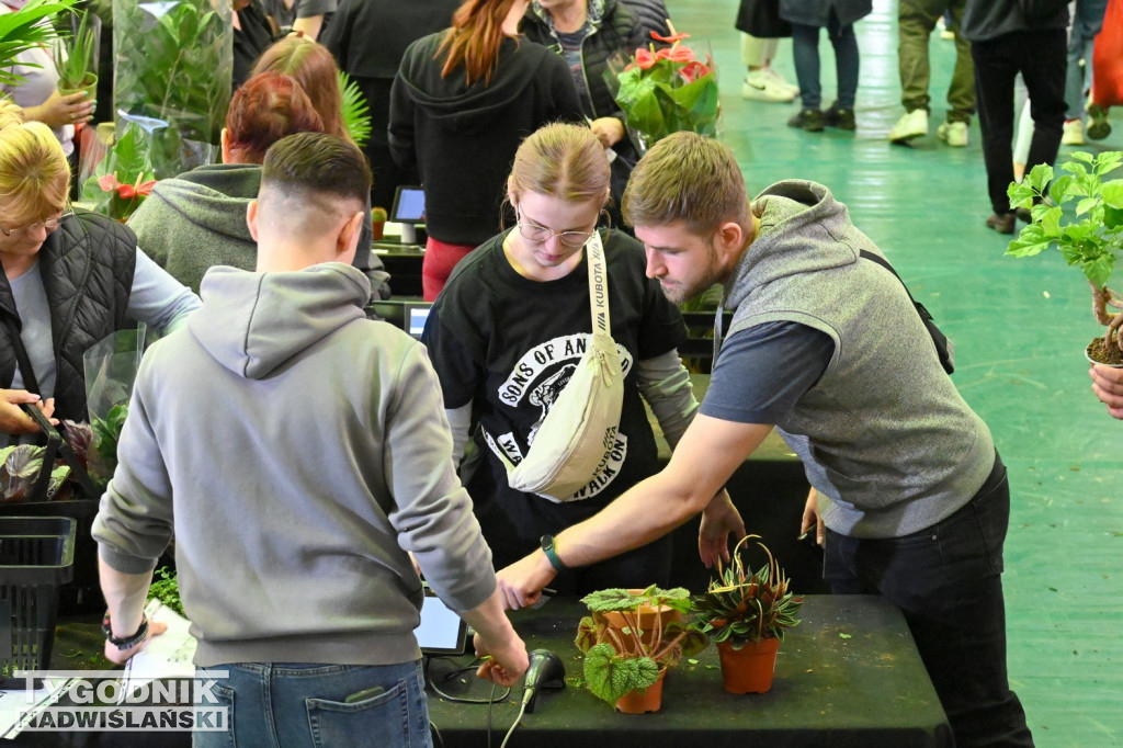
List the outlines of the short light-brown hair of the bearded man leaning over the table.
<svg viewBox="0 0 1123 748">
<path fill-rule="evenodd" d="M 752 231 L 733 152 L 696 133 L 675 133 L 651 146 L 628 180 L 621 210 L 629 226 L 683 221 L 691 234 L 710 236 L 732 221 Z"/>
</svg>

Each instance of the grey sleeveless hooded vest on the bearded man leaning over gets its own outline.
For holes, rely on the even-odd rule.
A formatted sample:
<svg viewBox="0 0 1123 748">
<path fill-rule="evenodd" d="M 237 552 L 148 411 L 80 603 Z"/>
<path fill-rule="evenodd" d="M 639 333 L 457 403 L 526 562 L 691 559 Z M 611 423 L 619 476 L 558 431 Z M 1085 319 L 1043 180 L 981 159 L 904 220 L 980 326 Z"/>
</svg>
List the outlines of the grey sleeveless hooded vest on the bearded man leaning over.
<svg viewBox="0 0 1123 748">
<path fill-rule="evenodd" d="M 935 346 L 846 206 L 789 180 L 754 199 L 760 231 L 725 288 L 729 335 L 794 321 L 834 340 L 819 382 L 777 423 L 843 535 L 923 530 L 975 495 L 994 466 L 990 431 L 944 374 Z M 783 362 L 777 362 L 783 366 Z"/>
</svg>

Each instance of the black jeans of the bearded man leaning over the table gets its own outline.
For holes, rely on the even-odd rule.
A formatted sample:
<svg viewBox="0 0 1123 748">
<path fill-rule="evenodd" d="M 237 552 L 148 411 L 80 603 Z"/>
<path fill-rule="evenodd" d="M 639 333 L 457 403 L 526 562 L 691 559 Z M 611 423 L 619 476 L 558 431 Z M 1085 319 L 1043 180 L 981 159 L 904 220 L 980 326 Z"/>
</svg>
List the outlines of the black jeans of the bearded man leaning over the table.
<svg viewBox="0 0 1123 748">
<path fill-rule="evenodd" d="M 901 608 L 958 748 L 1033 745 L 1006 675 L 1008 522 L 1010 483 L 995 455 L 971 501 L 933 527 L 889 539 L 827 531 L 823 577 L 831 591 L 878 593 Z"/>
</svg>

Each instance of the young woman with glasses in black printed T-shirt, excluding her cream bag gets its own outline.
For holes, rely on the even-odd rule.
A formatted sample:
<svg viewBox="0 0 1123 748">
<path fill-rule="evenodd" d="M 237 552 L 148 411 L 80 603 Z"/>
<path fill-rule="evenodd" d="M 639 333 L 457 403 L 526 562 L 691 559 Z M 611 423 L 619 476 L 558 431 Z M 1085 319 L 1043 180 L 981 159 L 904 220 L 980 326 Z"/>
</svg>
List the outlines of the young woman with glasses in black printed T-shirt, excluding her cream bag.
<svg viewBox="0 0 1123 748">
<path fill-rule="evenodd" d="M 676 352 L 686 337 L 682 314 L 646 277 L 643 246 L 622 231 L 599 229 L 612 338 L 626 374 L 615 444 L 588 484 L 560 502 L 508 482 L 500 453 L 512 463 L 527 454 L 592 338 L 583 247 L 597 230 L 609 183 L 604 148 L 587 127 L 549 125 L 528 137 L 506 182 L 518 224 L 457 265 L 422 336 L 445 394 L 455 458 L 464 453 L 473 418 L 478 421 L 476 446 L 485 464 L 465 480 L 496 568 L 658 472 L 641 396 L 672 445 L 697 409 Z M 563 594 L 646 587 L 666 584 L 669 569 L 668 537 L 603 564 L 566 569 L 554 586 Z"/>
</svg>

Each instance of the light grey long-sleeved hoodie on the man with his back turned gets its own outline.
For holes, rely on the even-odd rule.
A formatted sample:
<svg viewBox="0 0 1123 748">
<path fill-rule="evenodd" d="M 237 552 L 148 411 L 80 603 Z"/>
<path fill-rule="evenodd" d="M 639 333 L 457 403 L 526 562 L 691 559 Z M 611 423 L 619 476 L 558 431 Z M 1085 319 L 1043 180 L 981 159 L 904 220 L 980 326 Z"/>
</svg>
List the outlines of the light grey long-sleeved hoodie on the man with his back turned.
<svg viewBox="0 0 1123 748">
<path fill-rule="evenodd" d="M 217 267 L 144 357 L 93 535 L 135 574 L 174 527 L 198 665 L 416 659 L 407 551 L 454 610 L 494 591 L 436 374 L 368 293 L 339 263 Z"/>
</svg>

